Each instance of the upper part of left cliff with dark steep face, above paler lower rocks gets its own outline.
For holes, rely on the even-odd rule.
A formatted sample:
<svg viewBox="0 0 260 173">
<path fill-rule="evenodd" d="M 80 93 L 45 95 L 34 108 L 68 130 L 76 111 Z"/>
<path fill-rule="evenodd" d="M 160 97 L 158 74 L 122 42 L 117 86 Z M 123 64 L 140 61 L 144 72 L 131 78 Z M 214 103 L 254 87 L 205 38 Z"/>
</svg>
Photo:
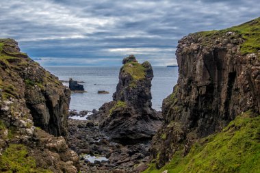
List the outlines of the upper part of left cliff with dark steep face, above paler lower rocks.
<svg viewBox="0 0 260 173">
<path fill-rule="evenodd" d="M 0 40 L 0 44 L 5 100 L 24 98 L 37 127 L 56 136 L 66 136 L 70 90 L 21 53 L 14 40 Z"/>
</svg>

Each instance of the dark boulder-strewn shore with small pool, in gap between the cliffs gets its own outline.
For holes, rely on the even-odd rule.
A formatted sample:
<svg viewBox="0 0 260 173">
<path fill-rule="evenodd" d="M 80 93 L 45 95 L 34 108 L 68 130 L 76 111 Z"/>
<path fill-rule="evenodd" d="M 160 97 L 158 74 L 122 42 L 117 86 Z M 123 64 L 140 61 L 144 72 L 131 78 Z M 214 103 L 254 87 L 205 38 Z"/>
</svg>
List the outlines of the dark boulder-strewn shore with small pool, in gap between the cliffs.
<svg viewBox="0 0 260 173">
<path fill-rule="evenodd" d="M 144 163 L 151 142 L 122 145 L 110 140 L 91 120 L 69 119 L 68 146 L 81 157 L 81 172 L 140 172 L 147 168 Z"/>
</svg>

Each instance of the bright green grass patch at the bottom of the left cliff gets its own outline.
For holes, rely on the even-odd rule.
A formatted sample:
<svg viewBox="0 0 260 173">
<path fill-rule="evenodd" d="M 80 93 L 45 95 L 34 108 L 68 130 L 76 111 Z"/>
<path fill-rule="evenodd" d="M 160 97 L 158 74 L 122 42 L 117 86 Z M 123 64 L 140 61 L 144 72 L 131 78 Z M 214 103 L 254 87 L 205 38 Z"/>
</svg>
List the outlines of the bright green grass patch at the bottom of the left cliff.
<svg viewBox="0 0 260 173">
<path fill-rule="evenodd" d="M 23 144 L 10 144 L 0 157 L 0 172 L 51 172 L 36 168 L 36 161 L 29 157 Z"/>
</svg>

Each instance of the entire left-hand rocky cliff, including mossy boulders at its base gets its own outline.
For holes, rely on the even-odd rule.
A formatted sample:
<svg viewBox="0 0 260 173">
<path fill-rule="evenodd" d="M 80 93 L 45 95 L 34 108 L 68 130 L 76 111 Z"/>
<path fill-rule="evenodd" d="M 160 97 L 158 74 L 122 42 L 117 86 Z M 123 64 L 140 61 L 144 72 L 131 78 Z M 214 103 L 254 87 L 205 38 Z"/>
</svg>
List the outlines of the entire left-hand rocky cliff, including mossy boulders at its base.
<svg viewBox="0 0 260 173">
<path fill-rule="evenodd" d="M 0 74 L 0 172 L 77 172 L 64 139 L 70 90 L 12 39 L 0 40 Z"/>
</svg>

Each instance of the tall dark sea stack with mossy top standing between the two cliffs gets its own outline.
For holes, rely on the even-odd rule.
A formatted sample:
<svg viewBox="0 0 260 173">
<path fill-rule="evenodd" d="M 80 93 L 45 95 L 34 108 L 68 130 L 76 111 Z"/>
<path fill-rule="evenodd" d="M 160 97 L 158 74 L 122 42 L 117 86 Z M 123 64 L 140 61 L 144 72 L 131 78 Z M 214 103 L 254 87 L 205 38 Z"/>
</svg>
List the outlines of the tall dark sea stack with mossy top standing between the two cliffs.
<svg viewBox="0 0 260 173">
<path fill-rule="evenodd" d="M 133 55 L 123 59 L 122 64 L 114 101 L 105 103 L 94 116 L 111 139 L 151 139 L 161 126 L 161 115 L 151 103 L 153 68 L 149 62 L 139 64 Z"/>
</svg>

